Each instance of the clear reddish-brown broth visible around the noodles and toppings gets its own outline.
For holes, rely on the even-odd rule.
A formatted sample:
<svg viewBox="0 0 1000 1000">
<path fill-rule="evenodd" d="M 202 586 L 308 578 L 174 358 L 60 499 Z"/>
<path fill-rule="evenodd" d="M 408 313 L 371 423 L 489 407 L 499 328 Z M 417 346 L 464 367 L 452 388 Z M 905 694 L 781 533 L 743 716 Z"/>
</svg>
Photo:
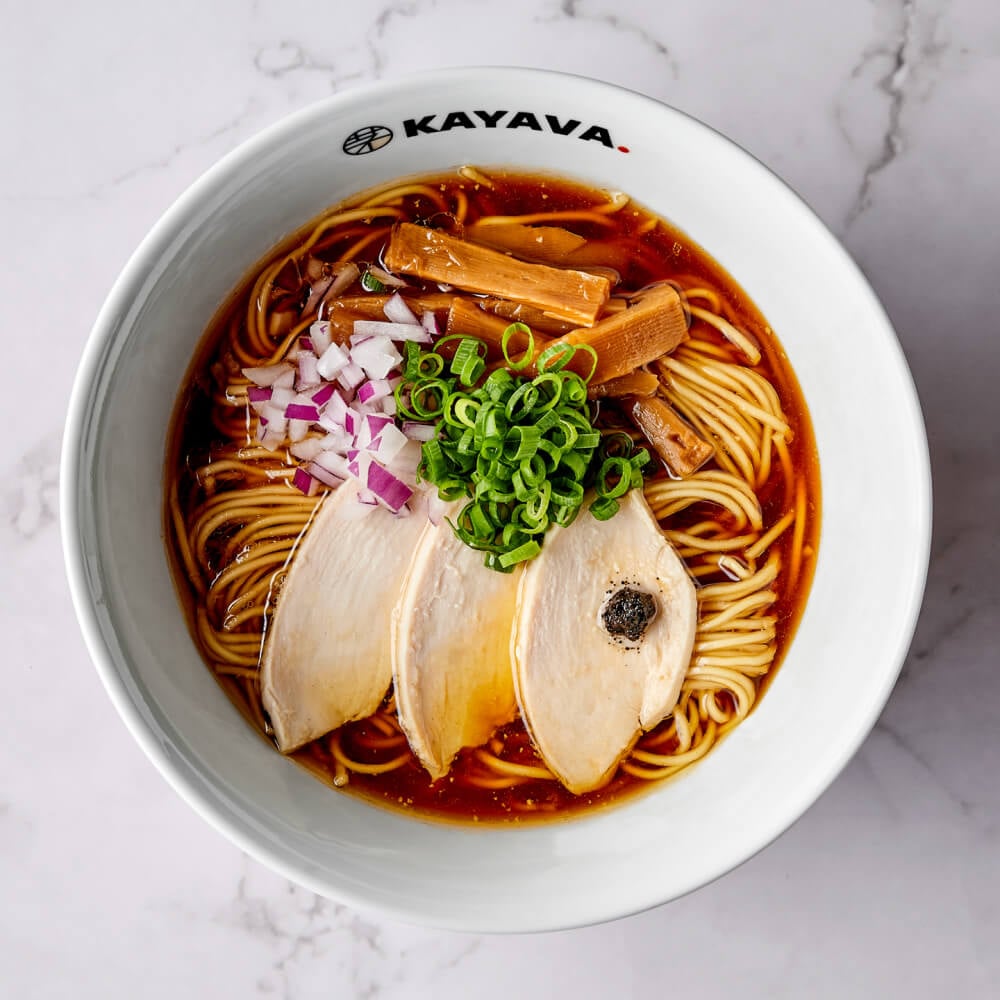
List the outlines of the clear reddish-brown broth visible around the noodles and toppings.
<svg viewBox="0 0 1000 1000">
<path fill-rule="evenodd" d="M 590 208 L 603 202 L 606 197 L 602 192 L 550 176 L 527 176 L 494 171 L 491 172 L 491 177 L 495 181 L 493 190 L 478 187 L 457 175 L 435 177 L 433 183 L 449 200 L 457 187 L 465 190 L 470 200 L 468 219 L 470 222 L 490 214 L 520 215 Z M 413 220 L 430 223 L 441 221 L 438 207 L 423 196 L 408 196 L 405 205 L 408 217 Z M 774 333 L 746 293 L 717 262 L 686 234 L 662 220 L 649 231 L 641 231 L 654 216 L 638 206 L 629 204 L 608 218 L 613 223 L 608 227 L 588 222 L 554 224 L 563 225 L 588 239 L 601 240 L 609 248 L 609 258 L 619 265 L 618 270 L 621 274 L 619 289 L 635 291 L 652 282 L 683 277 L 689 286 L 691 279 L 697 278 L 699 282 L 704 282 L 716 290 L 728 307 L 730 319 L 735 325 L 752 334 L 759 343 L 763 357 L 757 370 L 775 386 L 794 432 L 794 439 L 789 446 L 792 466 L 796 475 L 805 480 L 808 498 L 804 550 L 807 558 L 803 561 L 802 572 L 794 592 L 783 584 L 782 575 L 779 575 L 773 585 L 777 590 L 778 600 L 769 610 L 769 614 L 775 615 L 778 620 L 778 653 L 769 673 L 758 682 L 759 700 L 760 694 L 775 674 L 791 642 L 805 605 L 815 564 L 819 532 L 820 484 L 808 411 L 785 352 Z M 234 324 L 239 324 L 242 321 L 241 317 L 245 316 L 247 299 L 257 275 L 268 262 L 276 260 L 280 254 L 287 253 L 301 243 L 312 227 L 313 223 L 310 223 L 283 241 L 264 261 L 254 267 L 207 329 L 186 380 L 185 390 L 178 401 L 167 458 L 167 480 L 169 482 L 176 478 L 179 482 L 182 505 L 192 502 L 194 491 L 197 489 L 190 470 L 211 456 L 213 449 L 224 440 L 213 424 L 211 389 L 213 367 L 225 362 L 227 334 L 230 328 Z M 316 244 L 314 255 L 335 261 L 346 241 L 356 239 L 364 232 L 363 223 L 349 225 L 332 232 Z M 377 248 L 373 247 L 369 259 L 374 262 L 378 256 Z M 281 275 L 278 280 L 281 282 Z M 428 290 L 436 291 L 436 289 Z M 348 290 L 347 294 L 358 291 L 359 289 L 355 287 Z M 723 343 L 721 337 L 718 339 L 720 344 Z M 248 418 L 247 443 L 250 441 L 250 426 Z M 773 524 L 787 509 L 785 493 L 786 484 L 783 481 L 782 470 L 775 462 L 769 480 L 758 491 L 765 526 Z M 696 505 L 671 518 L 669 526 L 683 529 L 702 519 L 706 513 L 704 507 L 699 509 L 699 505 Z M 717 515 L 718 512 L 714 513 Z M 193 620 L 195 597 L 179 565 L 176 541 L 173 538 L 173 528 L 169 518 L 167 535 L 170 539 L 168 550 L 178 589 L 189 619 Z M 784 564 L 787 562 L 788 549 L 791 545 L 791 532 L 786 531 L 774 544 L 781 551 Z M 220 681 L 241 711 L 253 722 L 254 718 L 260 715 L 259 708 L 257 711 L 251 710 L 238 685 L 226 678 L 220 678 Z M 364 744 L 373 735 L 377 735 L 377 730 L 367 721 L 350 723 L 341 730 L 345 749 L 363 753 L 364 759 L 372 763 L 386 760 L 399 752 L 398 748 L 391 751 L 366 750 Z M 498 730 L 494 740 L 503 745 L 506 760 L 534 765 L 541 763 L 520 719 Z M 314 741 L 292 756 L 332 784 L 334 761 L 326 737 Z M 513 788 L 487 790 L 469 784 L 467 779 L 473 775 L 489 776 L 490 772 L 477 760 L 476 750 L 466 748 L 456 758 L 450 773 L 434 783 L 428 780 L 426 772 L 411 754 L 410 761 L 395 771 L 375 776 L 352 774 L 346 787 L 351 792 L 374 802 L 411 810 L 425 817 L 468 822 L 534 820 L 579 814 L 595 806 L 621 801 L 625 797 L 649 790 L 651 786 L 658 784 L 631 777 L 619 770 L 604 788 L 576 796 L 559 783 L 552 781 L 532 780 Z"/>
</svg>

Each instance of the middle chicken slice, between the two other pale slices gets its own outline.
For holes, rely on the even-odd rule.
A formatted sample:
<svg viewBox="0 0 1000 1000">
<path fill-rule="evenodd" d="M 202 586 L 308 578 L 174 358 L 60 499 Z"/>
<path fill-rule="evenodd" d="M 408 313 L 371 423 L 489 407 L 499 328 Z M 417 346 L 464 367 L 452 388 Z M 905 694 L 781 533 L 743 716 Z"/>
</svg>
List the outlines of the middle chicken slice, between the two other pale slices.
<svg viewBox="0 0 1000 1000">
<path fill-rule="evenodd" d="M 487 569 L 447 521 L 428 525 L 414 553 L 393 614 L 393 682 L 400 726 L 433 780 L 517 712 L 510 631 L 520 576 Z"/>
</svg>

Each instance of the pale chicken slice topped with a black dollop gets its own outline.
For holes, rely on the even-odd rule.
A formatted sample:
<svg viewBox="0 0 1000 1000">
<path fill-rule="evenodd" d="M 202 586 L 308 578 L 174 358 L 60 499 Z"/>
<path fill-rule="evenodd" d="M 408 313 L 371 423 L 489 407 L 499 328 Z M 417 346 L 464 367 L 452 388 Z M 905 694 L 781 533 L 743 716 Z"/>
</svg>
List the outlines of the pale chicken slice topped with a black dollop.
<svg viewBox="0 0 1000 1000">
<path fill-rule="evenodd" d="M 549 531 L 521 582 L 511 650 L 525 726 L 571 792 L 606 784 L 673 709 L 696 623 L 694 584 L 641 490 L 608 521 L 581 512 Z"/>
</svg>

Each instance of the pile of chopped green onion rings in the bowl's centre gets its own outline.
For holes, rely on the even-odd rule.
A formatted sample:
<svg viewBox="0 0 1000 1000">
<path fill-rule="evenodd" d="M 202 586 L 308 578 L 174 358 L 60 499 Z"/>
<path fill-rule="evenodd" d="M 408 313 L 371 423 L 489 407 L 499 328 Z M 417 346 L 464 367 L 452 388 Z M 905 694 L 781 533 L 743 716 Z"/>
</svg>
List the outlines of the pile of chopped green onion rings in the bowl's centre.
<svg viewBox="0 0 1000 1000">
<path fill-rule="evenodd" d="M 511 354 L 515 336 L 527 345 L 519 357 Z M 593 370 L 583 378 L 567 367 L 580 350 L 596 365 L 592 348 L 552 345 L 533 377 L 519 374 L 535 354 L 527 326 L 508 326 L 501 350 L 507 368 L 486 375 L 481 340 L 454 334 L 431 350 L 407 343 L 394 396 L 404 419 L 435 425 L 419 474 L 441 499 L 467 499 L 451 524 L 455 534 L 484 553 L 486 566 L 506 573 L 541 551 L 553 524 L 572 524 L 588 488 L 597 494 L 593 516 L 613 517 L 618 499 L 641 487 L 650 456 L 627 434 L 594 427 L 587 400 Z"/>
</svg>

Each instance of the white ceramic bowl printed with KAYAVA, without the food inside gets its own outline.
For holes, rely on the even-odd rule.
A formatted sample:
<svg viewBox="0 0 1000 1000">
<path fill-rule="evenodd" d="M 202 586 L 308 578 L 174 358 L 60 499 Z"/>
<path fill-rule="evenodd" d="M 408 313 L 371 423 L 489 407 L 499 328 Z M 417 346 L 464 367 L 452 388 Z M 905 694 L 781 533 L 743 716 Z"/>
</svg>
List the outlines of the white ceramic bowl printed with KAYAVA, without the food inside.
<svg viewBox="0 0 1000 1000">
<path fill-rule="evenodd" d="M 509 113 L 493 128 L 477 113 L 501 109 Z M 453 117 L 458 124 L 442 129 L 453 111 L 476 127 Z M 540 130 L 527 118 L 509 127 L 516 111 L 531 112 Z M 560 135 L 549 115 L 580 124 Z M 358 134 L 366 126 L 393 136 L 365 152 L 379 145 Z M 812 594 L 753 715 L 653 793 L 526 829 L 386 812 L 332 792 L 269 748 L 199 658 L 161 531 L 167 423 L 223 298 L 278 238 L 327 205 L 462 163 L 624 190 L 689 233 L 778 332 L 820 455 Z M 892 328 L 857 267 L 780 180 L 711 129 L 637 94 L 547 72 L 469 69 L 361 88 L 292 115 L 164 215 L 87 344 L 66 429 L 62 514 L 77 614 L 101 678 L 135 738 L 202 815 L 334 899 L 442 927 L 525 931 L 689 892 L 750 857 L 819 796 L 873 725 L 906 652 L 927 565 L 930 478 Z"/>
</svg>

